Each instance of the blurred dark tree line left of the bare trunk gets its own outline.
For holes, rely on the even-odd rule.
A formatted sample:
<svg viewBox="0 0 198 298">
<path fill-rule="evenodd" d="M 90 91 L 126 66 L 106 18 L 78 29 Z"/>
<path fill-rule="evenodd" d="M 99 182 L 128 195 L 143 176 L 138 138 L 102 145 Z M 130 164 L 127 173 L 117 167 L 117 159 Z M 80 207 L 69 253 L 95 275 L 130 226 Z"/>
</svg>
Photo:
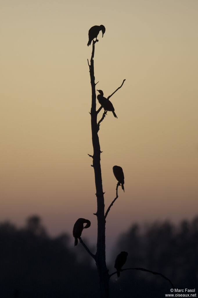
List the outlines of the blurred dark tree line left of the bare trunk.
<svg viewBox="0 0 198 298">
<path fill-rule="evenodd" d="M 0 297 L 97 297 L 97 273 L 84 248 L 78 261 L 69 237 L 50 238 L 38 216 L 22 229 L 1 223 L 0 243 Z"/>
</svg>

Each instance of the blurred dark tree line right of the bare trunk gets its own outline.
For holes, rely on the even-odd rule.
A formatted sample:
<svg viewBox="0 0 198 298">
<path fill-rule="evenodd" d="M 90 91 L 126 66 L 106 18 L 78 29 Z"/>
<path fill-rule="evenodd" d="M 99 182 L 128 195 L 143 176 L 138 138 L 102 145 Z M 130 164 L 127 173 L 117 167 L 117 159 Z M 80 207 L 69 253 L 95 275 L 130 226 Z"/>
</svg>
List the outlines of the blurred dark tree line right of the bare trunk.
<svg viewBox="0 0 198 298">
<path fill-rule="evenodd" d="M 144 227 L 133 224 L 120 236 L 113 256 L 120 250 L 128 252 L 123 268 L 143 267 L 160 272 L 176 288 L 195 288 L 198 295 L 198 217 L 192 221 L 183 220 L 177 226 L 168 221 L 153 222 Z M 112 297 L 160 298 L 171 294 L 171 285 L 166 280 L 136 270 L 123 271 L 111 287 Z"/>
</svg>

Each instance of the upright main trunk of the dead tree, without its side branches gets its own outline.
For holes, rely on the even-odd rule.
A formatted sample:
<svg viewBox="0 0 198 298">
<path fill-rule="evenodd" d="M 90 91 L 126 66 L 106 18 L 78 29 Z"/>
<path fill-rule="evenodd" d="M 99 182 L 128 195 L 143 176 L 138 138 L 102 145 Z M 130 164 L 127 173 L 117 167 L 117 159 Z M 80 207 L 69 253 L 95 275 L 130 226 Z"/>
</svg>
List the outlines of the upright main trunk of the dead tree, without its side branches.
<svg viewBox="0 0 198 298">
<path fill-rule="evenodd" d="M 96 94 L 95 94 L 95 77 L 94 77 L 94 50 L 95 42 L 93 41 L 92 56 L 89 65 L 89 72 L 92 87 L 92 107 L 91 107 L 91 128 L 92 128 L 92 145 L 93 145 L 93 168 L 95 174 L 95 187 L 97 197 L 97 220 L 98 220 L 98 238 L 96 250 L 96 265 L 98 268 L 100 283 L 100 298 L 109 298 L 109 273 L 106 267 L 105 257 L 105 216 L 104 216 L 104 193 L 102 186 L 102 175 L 100 167 L 100 143 L 98 138 L 97 112 L 96 112 Z"/>
</svg>

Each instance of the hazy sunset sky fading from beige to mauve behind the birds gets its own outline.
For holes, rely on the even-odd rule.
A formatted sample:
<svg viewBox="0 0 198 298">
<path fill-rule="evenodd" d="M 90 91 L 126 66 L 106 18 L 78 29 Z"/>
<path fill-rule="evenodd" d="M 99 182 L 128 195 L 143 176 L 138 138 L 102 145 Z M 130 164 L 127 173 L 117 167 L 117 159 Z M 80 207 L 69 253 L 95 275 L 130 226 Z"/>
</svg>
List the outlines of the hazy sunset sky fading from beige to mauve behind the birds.
<svg viewBox="0 0 198 298">
<path fill-rule="evenodd" d="M 108 112 L 99 131 L 106 208 L 112 167 L 125 175 L 107 244 L 134 221 L 197 215 L 197 14 L 195 0 L 0 1 L 0 221 L 37 214 L 51 235 L 71 235 L 83 217 L 95 241 L 87 42 L 100 24 L 97 89 L 107 97 L 126 79 L 111 97 L 118 119 Z"/>
</svg>

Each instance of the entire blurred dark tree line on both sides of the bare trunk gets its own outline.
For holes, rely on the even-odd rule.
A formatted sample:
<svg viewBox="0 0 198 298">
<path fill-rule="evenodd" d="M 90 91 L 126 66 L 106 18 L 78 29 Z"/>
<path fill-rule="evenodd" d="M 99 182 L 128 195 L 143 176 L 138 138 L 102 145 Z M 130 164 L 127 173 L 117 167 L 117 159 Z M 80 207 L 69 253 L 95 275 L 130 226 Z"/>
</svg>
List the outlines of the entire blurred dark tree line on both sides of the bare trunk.
<svg viewBox="0 0 198 298">
<path fill-rule="evenodd" d="M 98 297 L 97 272 L 84 248 L 77 246 L 81 250 L 78 260 L 69 236 L 49 237 L 38 216 L 28 218 L 21 229 L 0 223 L 0 243 L 0 297 Z M 120 251 L 128 252 L 123 268 L 161 272 L 177 288 L 195 288 L 196 293 L 198 217 L 179 226 L 154 222 L 142 228 L 133 224 L 118 240 L 111 269 Z M 112 298 L 163 297 L 171 288 L 160 276 L 136 270 L 123 271 L 118 279 L 114 275 L 110 287 Z"/>
</svg>

